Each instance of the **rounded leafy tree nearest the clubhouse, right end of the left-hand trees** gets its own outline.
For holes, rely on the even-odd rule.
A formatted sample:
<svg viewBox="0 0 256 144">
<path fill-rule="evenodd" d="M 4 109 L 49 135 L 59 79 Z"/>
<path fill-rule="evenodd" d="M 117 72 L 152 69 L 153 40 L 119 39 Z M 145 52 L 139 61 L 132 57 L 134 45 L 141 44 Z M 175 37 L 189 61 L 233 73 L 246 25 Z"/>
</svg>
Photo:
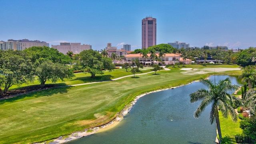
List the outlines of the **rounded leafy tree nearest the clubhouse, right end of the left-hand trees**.
<svg viewBox="0 0 256 144">
<path fill-rule="evenodd" d="M 104 72 L 102 72 L 101 70 L 102 68 L 106 68 L 108 70 L 113 69 L 113 65 L 109 64 L 110 61 L 105 60 L 104 62 L 109 62 L 109 63 L 104 64 L 104 62 L 102 62 L 102 58 L 103 58 L 102 55 L 99 52 L 96 52 L 94 50 L 84 50 L 80 52 L 79 57 L 80 57 L 80 64 L 85 69 L 85 72 L 88 72 L 91 74 L 91 78 L 94 78 L 96 74 L 104 74 Z M 107 59 L 107 58 L 104 58 L 104 59 Z"/>
</svg>

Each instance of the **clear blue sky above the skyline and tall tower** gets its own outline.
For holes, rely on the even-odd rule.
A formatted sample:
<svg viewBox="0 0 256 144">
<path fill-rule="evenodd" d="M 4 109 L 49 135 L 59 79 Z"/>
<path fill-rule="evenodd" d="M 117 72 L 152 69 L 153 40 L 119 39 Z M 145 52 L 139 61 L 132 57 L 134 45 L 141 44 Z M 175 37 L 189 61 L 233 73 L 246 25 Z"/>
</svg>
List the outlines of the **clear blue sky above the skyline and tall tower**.
<svg viewBox="0 0 256 144">
<path fill-rule="evenodd" d="M 0 40 L 107 43 L 141 48 L 141 20 L 156 18 L 157 44 L 256 47 L 256 0 L 0 0 Z"/>
</svg>

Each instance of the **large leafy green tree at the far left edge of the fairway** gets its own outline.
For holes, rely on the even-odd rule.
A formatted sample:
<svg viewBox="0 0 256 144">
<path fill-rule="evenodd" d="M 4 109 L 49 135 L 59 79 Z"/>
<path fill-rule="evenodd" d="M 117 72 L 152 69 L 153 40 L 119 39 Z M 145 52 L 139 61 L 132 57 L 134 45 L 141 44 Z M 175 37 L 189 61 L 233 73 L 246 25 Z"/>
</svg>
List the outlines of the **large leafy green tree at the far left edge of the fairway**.
<svg viewBox="0 0 256 144">
<path fill-rule="evenodd" d="M 24 51 L 6 50 L 0 53 L 0 94 L 6 93 L 12 85 L 19 86 L 34 80 L 32 62 Z"/>
</svg>

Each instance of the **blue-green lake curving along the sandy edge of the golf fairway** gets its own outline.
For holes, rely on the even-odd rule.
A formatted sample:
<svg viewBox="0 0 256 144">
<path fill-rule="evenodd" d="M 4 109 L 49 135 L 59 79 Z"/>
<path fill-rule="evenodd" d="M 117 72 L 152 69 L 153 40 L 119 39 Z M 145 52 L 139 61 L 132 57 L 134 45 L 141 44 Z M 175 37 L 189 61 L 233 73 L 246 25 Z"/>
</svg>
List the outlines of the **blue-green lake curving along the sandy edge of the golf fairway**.
<svg viewBox="0 0 256 144">
<path fill-rule="evenodd" d="M 216 82 L 229 77 L 216 76 Z M 210 77 L 214 81 L 214 76 Z M 189 94 L 206 88 L 194 82 L 175 89 L 148 94 L 138 100 L 117 126 L 68 142 L 68 144 L 216 144 L 216 124 L 210 124 L 210 106 L 200 118 L 193 114 L 200 102 L 190 103 Z M 231 94 L 232 92 L 230 92 Z"/>
</svg>

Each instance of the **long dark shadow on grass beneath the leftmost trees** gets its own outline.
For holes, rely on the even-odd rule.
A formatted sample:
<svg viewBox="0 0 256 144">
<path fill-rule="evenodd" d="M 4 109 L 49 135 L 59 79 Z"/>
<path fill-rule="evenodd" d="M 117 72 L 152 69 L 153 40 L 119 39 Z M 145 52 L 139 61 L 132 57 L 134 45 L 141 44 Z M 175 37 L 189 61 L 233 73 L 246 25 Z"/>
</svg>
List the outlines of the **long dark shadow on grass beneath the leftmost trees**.
<svg viewBox="0 0 256 144">
<path fill-rule="evenodd" d="M 20 100 L 22 98 L 29 98 L 29 97 L 43 97 L 43 96 L 52 96 L 53 94 L 64 94 L 68 92 L 68 89 L 72 88 L 73 86 L 67 86 L 65 83 L 61 83 L 56 87 L 51 88 L 42 88 L 38 90 L 32 90 L 25 93 L 20 93 L 17 95 L 13 95 L 11 98 L 7 98 L 4 100 L 0 100 L 0 105 L 6 102 L 15 102 L 16 100 Z"/>
</svg>

